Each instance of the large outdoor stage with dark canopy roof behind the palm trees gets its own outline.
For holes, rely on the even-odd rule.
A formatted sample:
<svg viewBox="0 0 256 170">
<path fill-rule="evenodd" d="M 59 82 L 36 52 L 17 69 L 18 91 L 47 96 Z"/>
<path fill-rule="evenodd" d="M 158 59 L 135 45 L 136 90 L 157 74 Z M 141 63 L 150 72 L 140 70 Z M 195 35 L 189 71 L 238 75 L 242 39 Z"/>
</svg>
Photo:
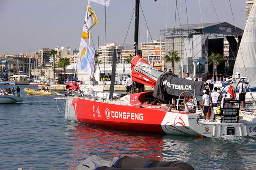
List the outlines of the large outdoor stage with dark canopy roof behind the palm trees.
<svg viewBox="0 0 256 170">
<path fill-rule="evenodd" d="M 238 51 L 238 41 L 241 41 L 244 30 L 227 22 L 222 22 L 185 24 L 160 30 L 160 32 L 165 39 L 165 54 L 168 51 L 178 51 L 178 56 L 183 60 L 184 72 L 193 73 L 193 62 L 199 62 L 201 68 L 197 68 L 197 73 L 201 76 L 200 74 L 208 71 L 208 59 L 211 52 L 219 53 L 222 56 L 227 54 L 224 53 L 225 41 L 228 41 L 229 55 L 223 56 L 227 60 L 224 69 L 226 73 L 223 74 L 232 75 Z M 165 66 L 171 68 L 171 63 L 166 63 Z M 181 75 L 181 62 L 174 63 L 173 72 Z"/>
</svg>

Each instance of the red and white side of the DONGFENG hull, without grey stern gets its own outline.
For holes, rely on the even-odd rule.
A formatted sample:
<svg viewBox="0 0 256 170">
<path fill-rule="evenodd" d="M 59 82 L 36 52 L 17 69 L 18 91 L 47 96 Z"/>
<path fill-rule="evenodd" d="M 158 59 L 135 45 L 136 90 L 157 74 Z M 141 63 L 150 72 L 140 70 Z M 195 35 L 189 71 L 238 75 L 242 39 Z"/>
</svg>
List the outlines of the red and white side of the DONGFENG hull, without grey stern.
<svg viewBox="0 0 256 170">
<path fill-rule="evenodd" d="M 69 96 L 66 120 L 76 120 L 111 129 L 153 132 L 172 135 L 200 135 L 189 128 L 186 113 L 173 113 L 161 107 L 134 107 Z M 195 121 L 195 118 L 191 119 Z"/>
</svg>

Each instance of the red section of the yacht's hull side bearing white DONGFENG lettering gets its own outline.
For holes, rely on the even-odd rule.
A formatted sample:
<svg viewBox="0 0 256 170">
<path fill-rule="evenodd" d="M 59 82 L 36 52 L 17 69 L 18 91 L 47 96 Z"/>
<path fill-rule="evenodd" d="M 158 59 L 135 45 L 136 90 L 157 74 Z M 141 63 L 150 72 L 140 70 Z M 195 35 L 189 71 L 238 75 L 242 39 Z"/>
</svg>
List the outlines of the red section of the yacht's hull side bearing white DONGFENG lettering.
<svg viewBox="0 0 256 170">
<path fill-rule="evenodd" d="M 84 122 L 83 119 L 94 119 L 111 122 L 150 123 L 160 125 L 166 114 L 165 109 L 152 110 L 151 107 L 147 109 L 81 98 L 73 98 L 72 105 L 79 122 Z"/>
</svg>

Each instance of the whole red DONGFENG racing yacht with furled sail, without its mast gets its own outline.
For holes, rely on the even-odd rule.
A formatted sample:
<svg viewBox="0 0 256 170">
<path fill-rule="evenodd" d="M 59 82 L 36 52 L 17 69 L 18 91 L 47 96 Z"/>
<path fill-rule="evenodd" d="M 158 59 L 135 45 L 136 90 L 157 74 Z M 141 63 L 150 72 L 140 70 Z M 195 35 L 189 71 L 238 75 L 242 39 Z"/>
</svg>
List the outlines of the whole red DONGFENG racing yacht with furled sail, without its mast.
<svg viewBox="0 0 256 170">
<path fill-rule="evenodd" d="M 139 55 L 132 60 L 132 79 L 155 87 L 154 91 L 134 93 L 107 100 L 85 96 L 78 84 L 68 84 L 66 120 L 75 120 L 104 128 L 139 132 L 221 137 L 251 136 L 256 123 L 239 121 L 240 102 L 223 96 L 213 107 L 215 121 L 205 119 L 194 96 L 209 91 L 207 83 L 195 82 L 156 70 Z M 187 96 L 193 96 L 190 99 Z M 175 99 L 175 100 L 173 100 Z M 175 101 L 175 104 L 172 102 Z"/>
</svg>

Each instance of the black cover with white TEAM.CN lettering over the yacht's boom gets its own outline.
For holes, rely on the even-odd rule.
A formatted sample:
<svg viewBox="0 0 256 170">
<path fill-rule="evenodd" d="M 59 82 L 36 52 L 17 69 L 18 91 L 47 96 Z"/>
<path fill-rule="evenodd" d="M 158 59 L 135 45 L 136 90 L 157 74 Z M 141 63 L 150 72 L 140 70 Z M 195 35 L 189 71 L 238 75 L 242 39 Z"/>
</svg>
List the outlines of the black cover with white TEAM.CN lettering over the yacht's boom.
<svg viewBox="0 0 256 170">
<path fill-rule="evenodd" d="M 168 93 L 169 95 L 179 96 L 182 92 L 185 92 L 185 96 L 203 95 L 203 90 L 207 90 L 204 86 L 204 81 L 192 81 L 185 78 L 178 78 L 173 74 L 162 74 L 157 79 L 157 84 L 154 88 L 153 96 L 157 99 L 164 100 L 164 95 Z M 190 92 L 190 93 L 188 93 Z"/>
</svg>

